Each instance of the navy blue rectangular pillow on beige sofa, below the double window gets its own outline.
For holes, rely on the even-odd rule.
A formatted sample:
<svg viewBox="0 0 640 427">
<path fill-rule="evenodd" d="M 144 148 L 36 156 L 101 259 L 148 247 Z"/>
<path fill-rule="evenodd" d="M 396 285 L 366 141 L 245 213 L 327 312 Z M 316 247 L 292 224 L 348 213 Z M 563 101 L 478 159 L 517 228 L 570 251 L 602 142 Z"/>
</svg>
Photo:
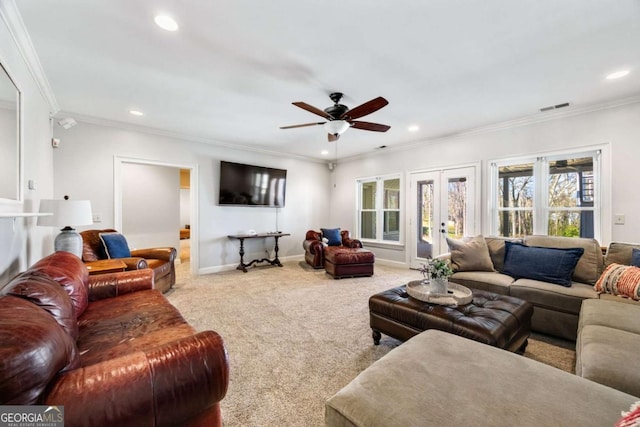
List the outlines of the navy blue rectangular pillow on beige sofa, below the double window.
<svg viewBox="0 0 640 427">
<path fill-rule="evenodd" d="M 505 242 L 503 273 L 515 279 L 532 279 L 571 286 L 571 276 L 583 248 L 542 248 Z"/>
</svg>

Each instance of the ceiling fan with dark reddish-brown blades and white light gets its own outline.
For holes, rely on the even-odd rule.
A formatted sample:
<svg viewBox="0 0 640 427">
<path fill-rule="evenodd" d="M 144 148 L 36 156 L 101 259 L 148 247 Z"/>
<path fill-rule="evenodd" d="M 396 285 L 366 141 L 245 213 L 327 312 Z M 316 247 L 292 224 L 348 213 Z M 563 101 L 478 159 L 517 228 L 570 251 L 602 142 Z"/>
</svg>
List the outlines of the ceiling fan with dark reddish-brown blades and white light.
<svg viewBox="0 0 640 427">
<path fill-rule="evenodd" d="M 349 109 L 346 105 L 340 104 L 342 99 L 342 93 L 334 92 L 329 95 L 329 98 L 333 101 L 333 105 L 321 110 L 309 105 L 306 102 L 293 102 L 293 105 L 300 107 L 303 110 L 307 110 L 310 113 L 317 114 L 320 117 L 327 119 L 326 122 L 313 122 L 303 123 L 300 125 L 281 126 L 280 129 L 293 129 L 306 126 L 324 125 L 325 130 L 329 135 L 329 142 L 337 141 L 347 129 L 350 127 L 362 130 L 371 130 L 374 132 L 386 132 L 391 126 L 382 125 L 380 123 L 363 122 L 360 117 L 371 114 L 374 111 L 378 111 L 389 103 L 386 99 L 379 96 L 371 101 L 365 102 L 362 105 L 358 105 L 355 108 Z"/>
</svg>

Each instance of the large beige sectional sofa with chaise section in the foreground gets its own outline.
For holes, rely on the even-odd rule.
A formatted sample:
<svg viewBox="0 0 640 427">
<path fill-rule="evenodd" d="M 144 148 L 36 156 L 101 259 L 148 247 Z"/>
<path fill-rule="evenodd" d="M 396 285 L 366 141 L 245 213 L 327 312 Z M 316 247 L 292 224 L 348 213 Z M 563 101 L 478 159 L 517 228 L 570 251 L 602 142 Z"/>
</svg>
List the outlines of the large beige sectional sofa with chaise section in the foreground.
<svg viewBox="0 0 640 427">
<path fill-rule="evenodd" d="M 427 330 L 331 397 L 326 425 L 612 426 L 629 411 L 640 400 L 640 304 L 598 293 L 594 285 L 610 264 L 631 264 L 640 245 L 611 243 L 603 256 L 593 239 L 530 236 L 521 242 L 582 248 L 571 286 L 502 273 L 503 238 L 484 239 L 489 255 L 480 263 L 477 253 L 461 253 L 464 245 L 454 244 L 445 258 L 464 271 L 451 280 L 531 302 L 534 331 L 576 340 L 576 375 Z M 468 268 L 474 265 L 484 271 Z"/>
</svg>

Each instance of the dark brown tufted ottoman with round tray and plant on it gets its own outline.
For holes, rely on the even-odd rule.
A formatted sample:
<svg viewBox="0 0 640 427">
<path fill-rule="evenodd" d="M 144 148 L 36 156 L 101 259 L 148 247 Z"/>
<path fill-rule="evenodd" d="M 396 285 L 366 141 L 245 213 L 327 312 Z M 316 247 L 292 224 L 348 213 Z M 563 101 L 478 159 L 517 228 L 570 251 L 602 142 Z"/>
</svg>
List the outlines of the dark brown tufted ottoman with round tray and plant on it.
<svg viewBox="0 0 640 427">
<path fill-rule="evenodd" d="M 524 352 L 531 333 L 533 306 L 527 301 L 473 289 L 473 301 L 457 307 L 412 298 L 405 286 L 369 298 L 373 342 L 381 333 L 406 341 L 427 329 L 439 329 L 484 344 Z"/>
</svg>

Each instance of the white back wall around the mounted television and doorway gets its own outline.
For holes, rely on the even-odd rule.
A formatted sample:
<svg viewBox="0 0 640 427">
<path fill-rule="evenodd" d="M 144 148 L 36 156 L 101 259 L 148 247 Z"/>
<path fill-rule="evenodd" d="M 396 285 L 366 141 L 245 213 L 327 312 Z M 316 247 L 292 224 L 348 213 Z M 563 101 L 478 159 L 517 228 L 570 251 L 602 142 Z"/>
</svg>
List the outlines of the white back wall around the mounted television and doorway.
<svg viewBox="0 0 640 427">
<path fill-rule="evenodd" d="M 114 226 L 115 156 L 195 168 L 198 206 L 194 212 L 197 221 L 191 223 L 192 251 L 197 240 L 194 253 L 198 254 L 200 272 L 235 268 L 239 261 L 238 242 L 229 240 L 229 234 L 249 229 L 275 231 L 277 217 L 278 228 L 291 233 L 280 239 L 280 257 L 301 256 L 306 231 L 324 227 L 329 219 L 329 170 L 324 163 L 77 120 L 78 125 L 69 130 L 58 126 L 54 130 L 61 140 L 54 151 L 56 196 L 68 194 L 75 199 L 90 199 L 93 212 L 102 215 L 102 223 L 94 227 L 109 228 Z M 286 169 L 286 206 L 280 209 L 218 206 L 220 160 Z M 265 251 L 272 248 L 272 239 L 247 241 L 246 259 L 264 258 Z"/>
</svg>

